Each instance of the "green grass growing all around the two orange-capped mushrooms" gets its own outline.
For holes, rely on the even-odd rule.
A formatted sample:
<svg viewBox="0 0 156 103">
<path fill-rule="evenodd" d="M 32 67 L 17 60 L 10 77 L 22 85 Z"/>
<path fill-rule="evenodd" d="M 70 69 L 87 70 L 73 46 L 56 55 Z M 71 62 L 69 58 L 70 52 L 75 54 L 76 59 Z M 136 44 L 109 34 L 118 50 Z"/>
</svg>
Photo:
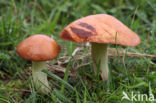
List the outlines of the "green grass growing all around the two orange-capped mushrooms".
<svg viewBox="0 0 156 103">
<path fill-rule="evenodd" d="M 123 91 L 128 95 L 132 91 L 151 92 L 156 98 L 156 62 L 145 57 L 110 58 L 110 79 L 104 83 L 94 75 L 92 63 L 76 71 L 78 78 L 68 77 L 69 69 L 91 62 L 90 57 L 78 61 L 72 57 L 64 66 L 67 69 L 63 77 L 44 71 L 53 88 L 49 95 L 35 90 L 31 62 L 16 54 L 17 44 L 30 35 L 43 33 L 62 47 L 56 60 L 64 55 L 70 57 L 77 46 L 83 45 L 60 39 L 60 31 L 80 17 L 97 13 L 115 16 L 141 38 L 137 47 L 110 47 L 156 55 L 155 0 L 0 0 L 0 103 L 132 103 L 121 101 Z M 81 54 L 87 52 L 88 47 Z"/>
</svg>

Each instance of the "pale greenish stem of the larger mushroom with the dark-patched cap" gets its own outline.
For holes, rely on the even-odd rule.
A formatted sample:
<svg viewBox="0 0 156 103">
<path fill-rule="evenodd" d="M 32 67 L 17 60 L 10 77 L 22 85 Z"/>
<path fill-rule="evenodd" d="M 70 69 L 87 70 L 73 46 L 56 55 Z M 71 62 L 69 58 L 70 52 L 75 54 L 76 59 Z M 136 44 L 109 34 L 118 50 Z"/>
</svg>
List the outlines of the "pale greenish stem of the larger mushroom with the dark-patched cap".
<svg viewBox="0 0 156 103">
<path fill-rule="evenodd" d="M 97 73 L 97 70 L 100 70 L 103 81 L 108 79 L 109 74 L 107 48 L 107 44 L 91 43 L 94 71 Z"/>
</svg>

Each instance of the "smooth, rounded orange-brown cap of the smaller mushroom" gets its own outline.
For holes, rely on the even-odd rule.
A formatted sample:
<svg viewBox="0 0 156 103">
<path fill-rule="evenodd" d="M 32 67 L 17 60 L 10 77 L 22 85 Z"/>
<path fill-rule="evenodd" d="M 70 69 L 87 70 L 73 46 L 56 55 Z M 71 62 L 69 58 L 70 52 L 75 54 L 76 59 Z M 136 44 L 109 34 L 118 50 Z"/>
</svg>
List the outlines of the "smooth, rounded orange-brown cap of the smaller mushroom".
<svg viewBox="0 0 156 103">
<path fill-rule="evenodd" d="M 37 34 L 20 43 L 16 51 L 24 59 L 46 61 L 55 58 L 59 54 L 60 47 L 52 38 Z"/>
</svg>

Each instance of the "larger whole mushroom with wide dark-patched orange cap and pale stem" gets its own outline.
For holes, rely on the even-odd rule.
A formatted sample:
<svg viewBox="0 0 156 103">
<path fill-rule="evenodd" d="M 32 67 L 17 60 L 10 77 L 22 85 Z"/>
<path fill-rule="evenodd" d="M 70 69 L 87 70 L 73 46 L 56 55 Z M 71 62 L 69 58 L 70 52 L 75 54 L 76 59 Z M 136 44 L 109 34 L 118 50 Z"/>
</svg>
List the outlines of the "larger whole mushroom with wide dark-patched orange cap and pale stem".
<svg viewBox="0 0 156 103">
<path fill-rule="evenodd" d="M 136 46 L 140 38 L 126 25 L 108 14 L 80 18 L 66 26 L 60 37 L 72 42 L 91 42 L 94 70 L 99 68 L 103 81 L 108 79 L 108 44 Z"/>
</svg>

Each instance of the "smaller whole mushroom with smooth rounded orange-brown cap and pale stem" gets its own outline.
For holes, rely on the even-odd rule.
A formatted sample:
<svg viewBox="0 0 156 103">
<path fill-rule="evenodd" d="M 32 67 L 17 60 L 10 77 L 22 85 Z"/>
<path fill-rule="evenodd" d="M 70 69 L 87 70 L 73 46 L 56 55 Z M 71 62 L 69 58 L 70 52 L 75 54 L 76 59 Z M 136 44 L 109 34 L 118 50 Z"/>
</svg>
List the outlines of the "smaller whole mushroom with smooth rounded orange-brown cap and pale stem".
<svg viewBox="0 0 156 103">
<path fill-rule="evenodd" d="M 47 74 L 42 70 L 47 69 L 47 60 L 59 54 L 59 45 L 50 37 L 37 34 L 28 37 L 17 47 L 17 53 L 24 59 L 32 61 L 32 77 L 36 88 L 41 92 L 49 92 Z"/>
</svg>

